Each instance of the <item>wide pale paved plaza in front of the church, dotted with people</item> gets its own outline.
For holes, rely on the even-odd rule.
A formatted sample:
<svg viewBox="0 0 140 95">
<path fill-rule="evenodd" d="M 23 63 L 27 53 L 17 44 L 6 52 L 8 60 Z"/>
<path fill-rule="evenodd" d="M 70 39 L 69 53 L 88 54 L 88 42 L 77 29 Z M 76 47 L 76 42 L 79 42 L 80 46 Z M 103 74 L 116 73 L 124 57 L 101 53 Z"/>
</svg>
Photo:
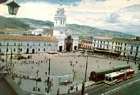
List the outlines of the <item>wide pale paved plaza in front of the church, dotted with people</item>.
<svg viewBox="0 0 140 95">
<path fill-rule="evenodd" d="M 50 80 L 52 81 L 52 87 L 50 90 L 51 95 L 56 95 L 58 89 L 60 89 L 60 94 L 68 93 L 70 86 L 81 85 L 84 80 L 86 57 L 80 52 L 58 54 L 40 53 L 32 54 L 31 56 L 31 59 L 13 60 L 13 71 L 18 75 L 36 77 L 36 71 L 39 71 L 38 76 L 41 77 L 41 82 L 38 82 L 37 85 L 34 80 L 15 78 L 17 84 L 21 81 L 20 87 L 24 91 L 35 93 L 33 88 L 37 86 L 40 88 L 40 91 L 37 93 L 46 93 L 45 80 L 48 77 L 46 74 L 46 72 L 48 73 L 49 66 L 48 58 L 50 58 Z M 137 64 L 134 64 L 133 62 L 127 63 L 121 59 L 118 60 L 97 54 L 88 55 L 88 71 L 86 79 L 88 81 L 91 71 L 104 71 L 124 65 L 130 65 L 137 72 Z M 60 85 L 60 82 L 66 80 L 72 81 L 72 83 L 68 85 Z"/>
</svg>

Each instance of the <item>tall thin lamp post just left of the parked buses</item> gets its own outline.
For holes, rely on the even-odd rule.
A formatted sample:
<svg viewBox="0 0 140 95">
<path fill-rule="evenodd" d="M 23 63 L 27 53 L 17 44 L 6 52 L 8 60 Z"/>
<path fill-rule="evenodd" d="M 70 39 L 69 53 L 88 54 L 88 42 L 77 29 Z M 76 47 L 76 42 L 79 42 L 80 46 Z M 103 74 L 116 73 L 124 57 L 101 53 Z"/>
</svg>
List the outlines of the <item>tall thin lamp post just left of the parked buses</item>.
<svg viewBox="0 0 140 95">
<path fill-rule="evenodd" d="M 87 68 L 88 68 L 88 54 L 87 51 L 85 53 L 85 57 L 86 57 L 86 68 L 85 68 L 85 77 L 82 83 L 82 90 L 81 90 L 81 95 L 84 95 L 85 92 L 85 82 L 86 82 L 86 77 L 87 77 Z"/>
</svg>

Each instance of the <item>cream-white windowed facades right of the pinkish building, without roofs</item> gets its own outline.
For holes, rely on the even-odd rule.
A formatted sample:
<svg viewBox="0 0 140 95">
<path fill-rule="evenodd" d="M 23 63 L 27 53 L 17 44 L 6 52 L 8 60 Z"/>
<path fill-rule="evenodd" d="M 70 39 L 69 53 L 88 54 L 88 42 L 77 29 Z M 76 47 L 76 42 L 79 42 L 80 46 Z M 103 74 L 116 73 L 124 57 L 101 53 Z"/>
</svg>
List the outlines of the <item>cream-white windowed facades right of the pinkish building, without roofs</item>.
<svg viewBox="0 0 140 95">
<path fill-rule="evenodd" d="M 133 44 L 129 42 L 119 42 L 119 41 L 109 41 L 109 40 L 98 40 L 98 39 L 93 39 L 92 46 L 100 49 L 109 49 L 111 52 L 118 51 L 121 52 L 121 55 L 125 56 L 135 56 L 136 55 L 136 48 L 138 48 L 138 54 L 137 57 L 140 57 L 140 44 Z M 133 47 L 133 49 L 132 49 Z M 131 54 L 132 50 L 132 54 Z"/>
</svg>

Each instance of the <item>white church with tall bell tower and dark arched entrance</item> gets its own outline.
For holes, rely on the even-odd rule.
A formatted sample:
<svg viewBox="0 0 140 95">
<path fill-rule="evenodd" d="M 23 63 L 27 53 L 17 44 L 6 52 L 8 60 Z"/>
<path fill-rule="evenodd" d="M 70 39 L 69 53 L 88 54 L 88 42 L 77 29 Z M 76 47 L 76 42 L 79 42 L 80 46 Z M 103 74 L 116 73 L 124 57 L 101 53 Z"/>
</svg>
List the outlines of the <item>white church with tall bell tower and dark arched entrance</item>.
<svg viewBox="0 0 140 95">
<path fill-rule="evenodd" d="M 58 51 L 73 51 L 78 49 L 79 37 L 73 35 L 66 28 L 66 15 L 64 8 L 58 8 L 54 16 L 53 36 L 58 40 Z"/>
</svg>

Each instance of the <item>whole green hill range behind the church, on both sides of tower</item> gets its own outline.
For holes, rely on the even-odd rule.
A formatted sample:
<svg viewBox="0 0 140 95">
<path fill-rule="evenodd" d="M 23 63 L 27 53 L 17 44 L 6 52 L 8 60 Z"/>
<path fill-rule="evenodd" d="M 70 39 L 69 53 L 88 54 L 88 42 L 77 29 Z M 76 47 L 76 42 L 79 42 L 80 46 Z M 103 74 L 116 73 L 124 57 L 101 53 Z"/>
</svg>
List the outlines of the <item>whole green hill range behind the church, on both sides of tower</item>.
<svg viewBox="0 0 140 95">
<path fill-rule="evenodd" d="M 40 21 L 27 18 L 6 18 L 0 16 L 0 34 L 16 33 L 24 34 L 26 31 L 36 28 L 50 28 L 53 27 L 51 21 Z M 135 36 L 110 30 L 102 30 L 85 25 L 68 24 L 67 28 L 72 34 L 76 33 L 80 36 L 105 36 L 105 37 L 121 37 L 133 38 Z"/>
</svg>

